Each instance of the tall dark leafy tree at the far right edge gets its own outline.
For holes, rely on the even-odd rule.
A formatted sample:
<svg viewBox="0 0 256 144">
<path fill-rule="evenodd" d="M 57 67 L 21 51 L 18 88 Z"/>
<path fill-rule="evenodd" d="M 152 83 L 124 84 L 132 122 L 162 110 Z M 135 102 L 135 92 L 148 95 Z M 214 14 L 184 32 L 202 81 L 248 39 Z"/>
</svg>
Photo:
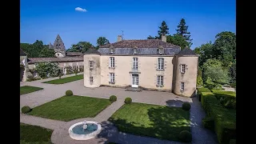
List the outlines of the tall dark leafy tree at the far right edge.
<svg viewBox="0 0 256 144">
<path fill-rule="evenodd" d="M 213 58 L 220 59 L 224 66 L 230 66 L 236 58 L 236 35 L 230 31 L 223 31 L 215 36 L 212 49 Z"/>
</svg>

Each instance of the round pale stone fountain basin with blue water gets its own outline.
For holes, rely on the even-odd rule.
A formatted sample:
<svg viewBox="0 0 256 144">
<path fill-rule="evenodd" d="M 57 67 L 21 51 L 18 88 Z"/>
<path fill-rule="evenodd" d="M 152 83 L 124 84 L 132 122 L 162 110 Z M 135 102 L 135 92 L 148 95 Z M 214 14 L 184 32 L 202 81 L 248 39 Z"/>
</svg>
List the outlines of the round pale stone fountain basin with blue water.
<svg viewBox="0 0 256 144">
<path fill-rule="evenodd" d="M 94 138 L 102 130 L 102 126 L 98 122 L 86 121 L 86 124 L 86 130 L 83 129 L 83 122 L 78 122 L 70 126 L 70 138 L 73 138 L 75 140 L 87 140 L 90 138 Z"/>
</svg>

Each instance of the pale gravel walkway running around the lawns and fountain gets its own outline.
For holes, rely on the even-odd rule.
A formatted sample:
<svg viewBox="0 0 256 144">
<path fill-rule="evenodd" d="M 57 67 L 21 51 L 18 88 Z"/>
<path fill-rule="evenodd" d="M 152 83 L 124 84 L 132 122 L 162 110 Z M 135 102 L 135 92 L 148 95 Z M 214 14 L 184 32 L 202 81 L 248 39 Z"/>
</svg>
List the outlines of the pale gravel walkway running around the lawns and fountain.
<svg viewBox="0 0 256 144">
<path fill-rule="evenodd" d="M 68 75 L 69 77 L 72 75 Z M 63 77 L 65 78 L 65 77 Z M 21 86 L 38 86 L 43 87 L 44 90 L 39 90 L 30 94 L 23 94 L 20 96 L 20 106 L 40 106 L 46 102 L 50 102 L 56 98 L 60 98 L 65 95 L 66 90 L 72 90 L 75 95 L 90 96 L 94 98 L 109 98 L 114 94 L 118 97 L 118 101 L 113 102 L 105 110 L 102 110 L 95 118 L 79 118 L 70 122 L 62 122 L 57 120 L 51 120 L 46 118 L 38 118 L 27 114 L 20 114 L 20 121 L 26 124 L 42 126 L 54 130 L 51 140 L 55 144 L 80 144 L 80 143 L 105 143 L 105 142 L 118 142 L 118 143 L 166 143 L 166 144 L 178 144 L 181 142 L 171 142 L 166 140 L 160 140 L 158 138 L 147 138 L 142 136 L 136 136 L 133 134 L 125 134 L 118 132 L 117 128 L 113 126 L 107 119 L 110 118 L 116 110 L 118 110 L 123 104 L 126 97 L 133 99 L 133 102 L 142 102 L 149 104 L 156 104 L 162 106 L 182 106 L 182 102 L 190 102 L 190 120 L 191 120 L 191 132 L 194 144 L 207 143 L 217 144 L 215 134 L 210 130 L 202 128 L 202 118 L 205 116 L 205 112 L 202 110 L 198 98 L 185 98 L 178 97 L 175 94 L 168 92 L 147 91 L 142 92 L 130 92 L 121 88 L 99 87 L 99 88 L 86 88 L 83 86 L 83 80 L 75 82 L 69 82 L 62 85 L 53 85 L 42 83 L 56 78 L 47 78 L 34 82 L 21 82 Z M 76 122 L 82 122 L 84 120 L 92 120 L 100 122 L 102 125 L 102 132 L 98 134 L 97 138 L 92 138 L 87 141 L 75 141 L 70 138 L 68 129 Z"/>
</svg>

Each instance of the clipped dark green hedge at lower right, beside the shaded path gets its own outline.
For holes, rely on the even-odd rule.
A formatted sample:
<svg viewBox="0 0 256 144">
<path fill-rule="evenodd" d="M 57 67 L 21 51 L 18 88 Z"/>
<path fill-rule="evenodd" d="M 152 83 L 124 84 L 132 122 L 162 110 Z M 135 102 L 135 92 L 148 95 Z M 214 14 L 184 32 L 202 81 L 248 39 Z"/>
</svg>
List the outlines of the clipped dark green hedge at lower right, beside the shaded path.
<svg viewBox="0 0 256 144">
<path fill-rule="evenodd" d="M 211 129 L 210 118 L 214 119 L 214 131 L 219 143 L 228 144 L 230 139 L 236 138 L 235 110 L 226 109 L 211 92 L 202 92 L 202 107 L 209 117 L 203 118 L 203 125 Z"/>
</svg>

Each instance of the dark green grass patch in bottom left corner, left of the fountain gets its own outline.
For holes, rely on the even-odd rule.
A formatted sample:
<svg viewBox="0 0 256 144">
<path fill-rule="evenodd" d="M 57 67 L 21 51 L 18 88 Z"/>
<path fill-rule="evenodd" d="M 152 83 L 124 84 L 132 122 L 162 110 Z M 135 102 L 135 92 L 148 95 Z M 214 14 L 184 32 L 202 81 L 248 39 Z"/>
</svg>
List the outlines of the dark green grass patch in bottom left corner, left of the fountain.
<svg viewBox="0 0 256 144">
<path fill-rule="evenodd" d="M 50 144 L 50 137 L 52 133 L 53 130 L 20 123 L 21 144 Z"/>
</svg>

